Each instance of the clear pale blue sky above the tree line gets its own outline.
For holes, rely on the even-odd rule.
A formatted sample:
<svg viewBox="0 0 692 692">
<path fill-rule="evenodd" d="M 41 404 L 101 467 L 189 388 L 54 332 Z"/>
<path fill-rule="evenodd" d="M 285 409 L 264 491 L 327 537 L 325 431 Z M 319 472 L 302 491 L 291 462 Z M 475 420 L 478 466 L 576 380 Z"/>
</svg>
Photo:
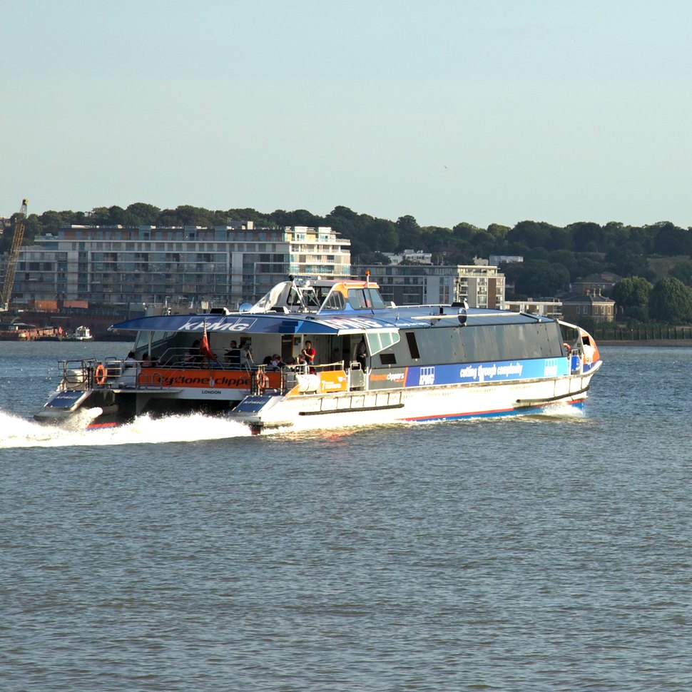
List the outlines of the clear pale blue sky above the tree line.
<svg viewBox="0 0 692 692">
<path fill-rule="evenodd" d="M 0 0 L 0 216 L 692 225 L 686 0 Z"/>
</svg>

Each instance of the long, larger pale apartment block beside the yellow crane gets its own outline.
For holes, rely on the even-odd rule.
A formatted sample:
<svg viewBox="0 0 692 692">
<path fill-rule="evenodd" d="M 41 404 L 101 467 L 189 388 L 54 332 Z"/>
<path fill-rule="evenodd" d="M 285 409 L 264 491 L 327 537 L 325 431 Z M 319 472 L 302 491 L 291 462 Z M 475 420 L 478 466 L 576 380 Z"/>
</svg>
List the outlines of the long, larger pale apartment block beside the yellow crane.
<svg viewBox="0 0 692 692">
<path fill-rule="evenodd" d="M 350 240 L 329 227 L 68 226 L 22 248 L 13 303 L 190 309 L 255 302 L 290 274 L 350 275 Z"/>
</svg>

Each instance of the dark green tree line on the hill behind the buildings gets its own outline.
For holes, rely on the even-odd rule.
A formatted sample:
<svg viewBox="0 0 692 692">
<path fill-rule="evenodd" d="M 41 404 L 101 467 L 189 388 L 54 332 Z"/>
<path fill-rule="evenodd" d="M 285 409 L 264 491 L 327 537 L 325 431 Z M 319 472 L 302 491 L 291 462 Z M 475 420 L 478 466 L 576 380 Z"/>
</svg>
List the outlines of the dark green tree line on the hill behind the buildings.
<svg viewBox="0 0 692 692">
<path fill-rule="evenodd" d="M 16 215 L 15 215 L 16 216 Z M 629 282 L 616 286 L 614 300 L 632 320 L 666 319 L 692 321 L 689 288 L 692 277 L 692 229 L 680 228 L 670 221 L 651 225 L 625 225 L 616 221 L 600 225 L 579 221 L 564 227 L 542 221 L 519 221 L 513 227 L 493 223 L 479 228 L 457 223 L 452 228 L 422 226 L 412 215 L 397 220 L 376 218 L 337 206 L 325 216 L 305 209 L 275 210 L 262 213 L 252 208 L 209 210 L 190 205 L 160 209 L 147 203 L 96 207 L 88 212 L 46 211 L 30 214 L 26 220 L 24 244 L 36 235 L 53 233 L 65 225 L 123 225 L 212 227 L 232 221 L 249 220 L 255 225 L 331 226 L 351 241 L 354 264 L 387 263 L 383 253 L 405 249 L 431 253 L 434 264 L 472 264 L 474 258 L 489 255 L 521 255 L 523 263 L 502 265 L 514 293 L 507 297 L 544 297 L 561 295 L 571 283 L 589 274 L 611 271 Z M 0 252 L 9 248 L 11 233 L 0 239 Z M 666 277 L 656 276 L 651 258 L 676 258 Z M 666 279 L 661 288 L 654 292 Z M 654 285 L 655 284 L 655 285 Z M 649 288 L 645 290 L 645 286 Z M 635 288 L 636 287 L 636 288 Z M 673 288 L 671 288 L 673 287 Z M 677 310 L 660 310 L 658 292 L 676 296 Z M 664 303 L 666 301 L 663 301 Z M 668 300 L 670 302 L 670 300 Z M 663 317 L 668 315 L 668 317 Z"/>
</svg>

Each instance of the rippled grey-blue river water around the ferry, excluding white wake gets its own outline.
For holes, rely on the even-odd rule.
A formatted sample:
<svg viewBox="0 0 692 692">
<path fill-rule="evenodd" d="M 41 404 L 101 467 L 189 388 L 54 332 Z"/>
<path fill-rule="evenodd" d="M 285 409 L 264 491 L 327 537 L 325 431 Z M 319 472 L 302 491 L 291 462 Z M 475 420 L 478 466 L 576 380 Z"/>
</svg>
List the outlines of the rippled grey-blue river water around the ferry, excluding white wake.
<svg viewBox="0 0 692 692">
<path fill-rule="evenodd" d="M 0 342 L 2 690 L 692 688 L 692 349 L 604 347 L 583 416 L 30 420 L 126 350 Z"/>
</svg>

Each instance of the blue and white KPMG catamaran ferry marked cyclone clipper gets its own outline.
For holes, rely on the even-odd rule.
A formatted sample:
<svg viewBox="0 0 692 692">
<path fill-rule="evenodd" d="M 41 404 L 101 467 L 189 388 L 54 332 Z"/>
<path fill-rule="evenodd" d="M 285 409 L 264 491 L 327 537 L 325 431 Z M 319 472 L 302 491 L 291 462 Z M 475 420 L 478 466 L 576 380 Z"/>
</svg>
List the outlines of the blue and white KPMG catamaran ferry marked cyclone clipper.
<svg viewBox="0 0 692 692">
<path fill-rule="evenodd" d="M 139 317 L 127 359 L 64 361 L 36 419 L 89 427 L 200 411 L 270 428 L 581 409 L 601 367 L 576 325 L 523 312 L 397 307 L 365 280 L 289 278 L 230 312 Z"/>
</svg>

